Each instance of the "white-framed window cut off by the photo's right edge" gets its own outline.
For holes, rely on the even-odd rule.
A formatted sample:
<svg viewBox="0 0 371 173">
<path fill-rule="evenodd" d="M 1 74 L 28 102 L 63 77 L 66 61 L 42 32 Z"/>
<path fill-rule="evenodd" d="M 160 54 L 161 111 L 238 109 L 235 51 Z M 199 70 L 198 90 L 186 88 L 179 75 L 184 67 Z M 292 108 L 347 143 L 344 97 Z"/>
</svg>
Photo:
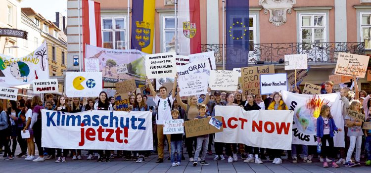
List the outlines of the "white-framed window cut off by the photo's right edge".
<svg viewBox="0 0 371 173">
<path fill-rule="evenodd" d="M 371 49 L 371 12 L 361 13 L 361 41 L 366 49 Z"/>
</svg>

